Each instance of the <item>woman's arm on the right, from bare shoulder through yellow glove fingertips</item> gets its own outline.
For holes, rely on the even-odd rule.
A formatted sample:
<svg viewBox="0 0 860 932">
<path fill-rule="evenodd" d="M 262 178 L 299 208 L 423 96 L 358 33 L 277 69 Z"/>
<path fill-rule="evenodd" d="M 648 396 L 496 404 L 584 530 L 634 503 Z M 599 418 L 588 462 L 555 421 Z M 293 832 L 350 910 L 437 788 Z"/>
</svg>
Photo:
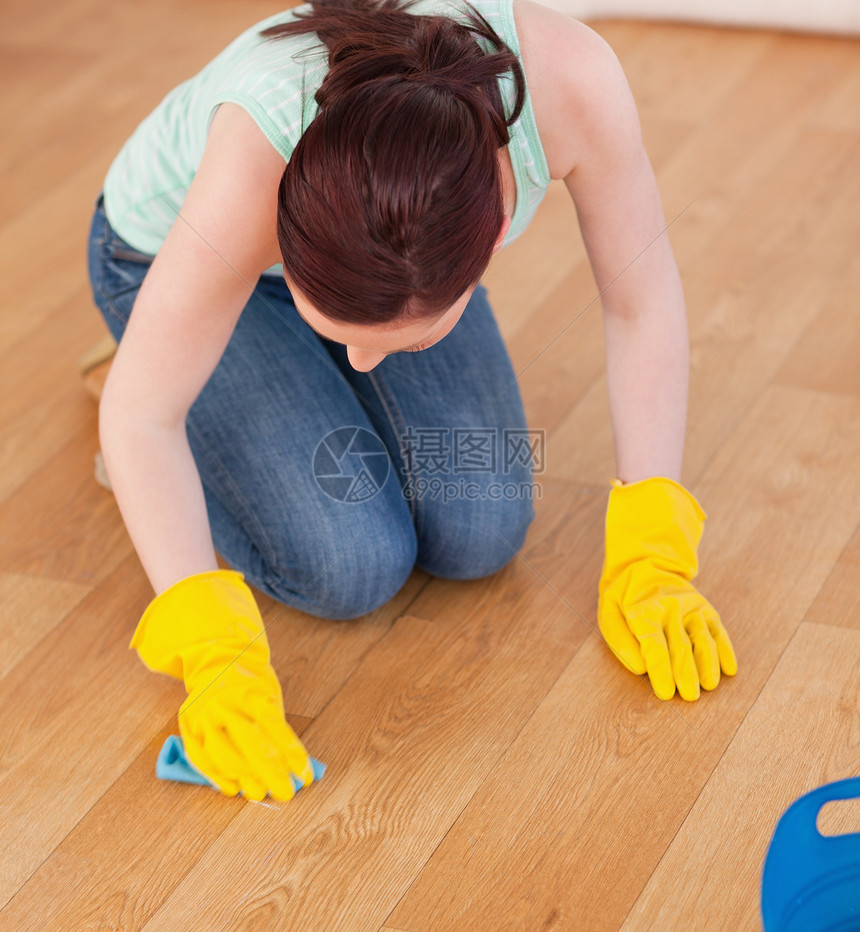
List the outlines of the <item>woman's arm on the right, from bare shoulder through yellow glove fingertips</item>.
<svg viewBox="0 0 860 932">
<path fill-rule="evenodd" d="M 550 173 L 564 178 L 603 298 L 617 475 L 608 496 L 597 621 L 654 692 L 688 701 L 733 675 L 714 607 L 692 585 L 705 514 L 680 484 L 687 414 L 686 309 L 633 96 L 615 55 L 575 20 L 523 2 Z M 541 68 L 541 63 L 545 63 Z M 535 81 L 531 82 L 534 77 Z M 533 95 L 534 97 L 534 95 Z M 555 119 L 551 117 L 555 115 Z M 639 481 L 646 480 L 646 481 Z"/>
</svg>

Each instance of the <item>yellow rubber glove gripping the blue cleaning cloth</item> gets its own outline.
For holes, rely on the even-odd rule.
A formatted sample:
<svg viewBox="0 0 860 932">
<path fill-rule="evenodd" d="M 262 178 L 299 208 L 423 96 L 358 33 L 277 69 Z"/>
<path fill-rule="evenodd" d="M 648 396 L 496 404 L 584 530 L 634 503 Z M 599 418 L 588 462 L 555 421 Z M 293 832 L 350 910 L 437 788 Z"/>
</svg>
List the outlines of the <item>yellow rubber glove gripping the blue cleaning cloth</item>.
<svg viewBox="0 0 860 932">
<path fill-rule="evenodd" d="M 284 716 L 266 629 L 241 573 L 189 576 L 162 592 L 131 640 L 150 670 L 185 681 L 179 730 L 189 760 L 222 793 L 293 796 L 290 771 L 313 781 L 308 753 Z"/>
</svg>

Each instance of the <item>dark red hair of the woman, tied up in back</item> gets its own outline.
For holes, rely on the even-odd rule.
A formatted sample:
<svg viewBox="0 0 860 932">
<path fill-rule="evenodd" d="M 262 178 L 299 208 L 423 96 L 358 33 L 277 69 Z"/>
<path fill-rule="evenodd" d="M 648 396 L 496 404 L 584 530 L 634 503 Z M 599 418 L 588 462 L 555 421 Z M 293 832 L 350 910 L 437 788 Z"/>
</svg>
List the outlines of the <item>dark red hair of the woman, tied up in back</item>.
<svg viewBox="0 0 860 932">
<path fill-rule="evenodd" d="M 410 5 L 313 0 L 263 33 L 315 32 L 328 48 L 318 114 L 281 180 L 278 240 L 291 280 L 336 321 L 443 312 L 480 280 L 504 219 L 498 150 L 522 109 L 520 63 L 476 11 L 459 23 Z"/>
</svg>

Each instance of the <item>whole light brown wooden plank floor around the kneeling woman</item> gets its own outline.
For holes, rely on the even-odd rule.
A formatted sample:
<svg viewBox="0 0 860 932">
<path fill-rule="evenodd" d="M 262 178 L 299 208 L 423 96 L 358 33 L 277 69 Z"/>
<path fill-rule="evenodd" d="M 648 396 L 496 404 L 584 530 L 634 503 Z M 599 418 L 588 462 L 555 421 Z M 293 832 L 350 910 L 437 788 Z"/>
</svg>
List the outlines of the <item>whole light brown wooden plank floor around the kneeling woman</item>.
<svg viewBox="0 0 860 932">
<path fill-rule="evenodd" d="M 157 781 L 180 685 L 92 478 L 85 241 L 139 119 L 261 0 L 6 4 L 0 39 L 0 928 L 753 930 L 774 824 L 860 773 L 860 42 L 595 24 L 641 107 L 692 334 L 685 482 L 740 671 L 663 703 L 594 633 L 612 475 L 599 307 L 553 188 L 489 284 L 537 519 L 497 576 L 355 623 L 261 598 L 328 764 L 285 804 Z M 833 830 L 852 823 L 847 805 Z"/>
</svg>

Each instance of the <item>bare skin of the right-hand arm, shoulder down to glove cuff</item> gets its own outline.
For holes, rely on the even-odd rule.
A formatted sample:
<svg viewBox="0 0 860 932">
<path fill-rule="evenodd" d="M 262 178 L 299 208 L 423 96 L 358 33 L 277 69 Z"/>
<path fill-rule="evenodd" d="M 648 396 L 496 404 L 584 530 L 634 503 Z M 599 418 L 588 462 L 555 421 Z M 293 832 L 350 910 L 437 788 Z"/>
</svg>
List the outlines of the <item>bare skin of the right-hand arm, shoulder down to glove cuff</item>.
<svg viewBox="0 0 860 932">
<path fill-rule="evenodd" d="M 689 344 L 681 282 L 630 88 L 592 30 L 528 4 L 529 67 L 553 177 L 564 178 L 603 293 L 618 477 L 680 479 Z"/>
</svg>

